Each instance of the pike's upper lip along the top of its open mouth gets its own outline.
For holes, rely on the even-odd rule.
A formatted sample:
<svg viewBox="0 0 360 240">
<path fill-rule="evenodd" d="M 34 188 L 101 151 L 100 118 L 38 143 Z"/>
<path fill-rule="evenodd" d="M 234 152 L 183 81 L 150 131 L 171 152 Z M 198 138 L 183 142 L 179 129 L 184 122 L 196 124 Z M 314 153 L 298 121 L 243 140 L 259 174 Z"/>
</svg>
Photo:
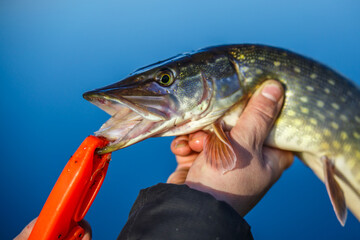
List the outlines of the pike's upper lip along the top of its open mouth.
<svg viewBox="0 0 360 240">
<path fill-rule="evenodd" d="M 93 103 L 111 116 L 116 114 L 117 110 L 119 109 L 117 106 L 120 105 L 128 107 L 132 111 L 141 115 L 143 118 L 151 121 L 157 122 L 166 121 L 169 119 L 169 116 L 164 111 L 153 107 L 147 107 L 145 105 L 140 105 L 134 101 L 131 101 L 131 96 L 119 96 L 108 92 L 101 92 L 95 90 L 84 93 L 83 97 L 84 99 Z M 146 98 L 146 96 L 144 96 L 144 98 Z"/>
</svg>

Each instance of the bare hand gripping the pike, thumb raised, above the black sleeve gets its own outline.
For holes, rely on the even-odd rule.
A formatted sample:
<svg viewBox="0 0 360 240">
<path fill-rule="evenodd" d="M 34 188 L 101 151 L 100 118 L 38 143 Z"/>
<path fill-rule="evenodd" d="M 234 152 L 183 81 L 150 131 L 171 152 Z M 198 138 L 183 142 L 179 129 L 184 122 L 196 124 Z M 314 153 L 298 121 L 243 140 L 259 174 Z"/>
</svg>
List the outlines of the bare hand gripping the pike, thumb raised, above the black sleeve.
<svg viewBox="0 0 360 240">
<path fill-rule="evenodd" d="M 276 81 L 265 82 L 254 93 L 230 131 L 238 161 L 235 169 L 225 174 L 206 164 L 204 132 L 176 138 L 171 150 L 178 168 L 168 182 L 186 179 L 189 187 L 210 193 L 245 216 L 293 162 L 291 152 L 263 146 L 282 103 L 283 90 Z"/>
</svg>

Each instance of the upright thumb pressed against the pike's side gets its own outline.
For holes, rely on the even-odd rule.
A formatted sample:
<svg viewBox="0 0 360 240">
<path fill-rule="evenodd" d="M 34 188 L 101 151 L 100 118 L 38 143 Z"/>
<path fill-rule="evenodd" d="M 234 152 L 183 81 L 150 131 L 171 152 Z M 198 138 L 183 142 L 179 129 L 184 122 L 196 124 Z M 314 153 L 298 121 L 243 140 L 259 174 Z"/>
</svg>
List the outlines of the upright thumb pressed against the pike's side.
<svg viewBox="0 0 360 240">
<path fill-rule="evenodd" d="M 280 112 L 283 92 L 281 84 L 275 80 L 263 83 L 249 100 L 231 136 L 250 146 L 262 146 Z"/>
</svg>

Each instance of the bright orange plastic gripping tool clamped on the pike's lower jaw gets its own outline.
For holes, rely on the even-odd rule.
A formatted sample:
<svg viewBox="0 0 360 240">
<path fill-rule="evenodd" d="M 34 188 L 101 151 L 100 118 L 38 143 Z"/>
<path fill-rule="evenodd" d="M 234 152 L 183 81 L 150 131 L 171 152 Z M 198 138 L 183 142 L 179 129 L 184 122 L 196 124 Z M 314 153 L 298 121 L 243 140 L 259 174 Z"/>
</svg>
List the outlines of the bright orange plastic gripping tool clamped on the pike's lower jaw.
<svg viewBox="0 0 360 240">
<path fill-rule="evenodd" d="M 108 142 L 87 137 L 70 158 L 40 212 L 29 240 L 82 239 L 78 224 L 86 215 L 109 166 L 111 153 L 98 155 L 96 148 Z"/>
</svg>

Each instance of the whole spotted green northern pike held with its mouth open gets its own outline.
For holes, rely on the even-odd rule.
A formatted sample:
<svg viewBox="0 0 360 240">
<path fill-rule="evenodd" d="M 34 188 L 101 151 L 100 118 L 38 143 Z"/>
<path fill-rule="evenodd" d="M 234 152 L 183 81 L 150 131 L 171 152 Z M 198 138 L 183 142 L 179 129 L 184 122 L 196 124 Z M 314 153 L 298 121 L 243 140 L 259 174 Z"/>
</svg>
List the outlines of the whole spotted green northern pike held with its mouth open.
<svg viewBox="0 0 360 240">
<path fill-rule="evenodd" d="M 285 100 L 266 145 L 294 152 L 325 182 L 342 225 L 347 207 L 360 220 L 360 90 L 312 59 L 263 45 L 210 47 L 140 68 L 84 98 L 112 116 L 96 132 L 111 141 L 100 153 L 205 130 L 206 157 L 225 173 L 237 161 L 225 132 L 268 79 L 282 83 Z"/>
</svg>

